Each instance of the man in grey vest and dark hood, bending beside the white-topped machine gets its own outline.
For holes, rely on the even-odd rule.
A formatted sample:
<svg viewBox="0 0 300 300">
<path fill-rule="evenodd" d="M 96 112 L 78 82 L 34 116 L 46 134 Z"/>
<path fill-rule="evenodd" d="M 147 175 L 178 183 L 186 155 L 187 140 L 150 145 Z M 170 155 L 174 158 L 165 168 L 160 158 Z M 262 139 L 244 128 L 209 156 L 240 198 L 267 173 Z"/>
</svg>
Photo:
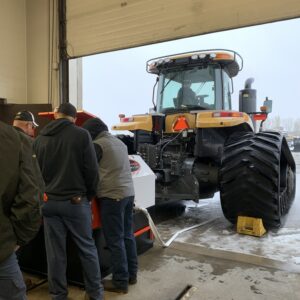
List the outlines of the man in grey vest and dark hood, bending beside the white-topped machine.
<svg viewBox="0 0 300 300">
<path fill-rule="evenodd" d="M 133 235 L 134 187 L 126 145 L 108 132 L 98 119 L 83 125 L 94 142 L 99 162 L 97 198 L 106 244 L 111 253 L 112 280 L 104 280 L 104 290 L 127 293 L 137 282 L 137 251 Z"/>
</svg>

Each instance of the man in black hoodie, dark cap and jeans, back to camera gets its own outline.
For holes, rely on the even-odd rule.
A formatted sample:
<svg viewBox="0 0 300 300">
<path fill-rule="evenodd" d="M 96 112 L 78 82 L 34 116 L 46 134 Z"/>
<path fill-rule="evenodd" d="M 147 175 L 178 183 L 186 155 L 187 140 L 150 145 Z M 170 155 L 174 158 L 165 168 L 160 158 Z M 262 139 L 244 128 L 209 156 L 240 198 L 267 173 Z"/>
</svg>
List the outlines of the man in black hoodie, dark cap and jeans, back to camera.
<svg viewBox="0 0 300 300">
<path fill-rule="evenodd" d="M 96 194 L 98 164 L 88 132 L 74 123 L 76 108 L 63 103 L 34 141 L 34 151 L 46 185 L 42 206 L 52 299 L 67 299 L 66 235 L 77 245 L 85 289 L 93 300 L 103 299 L 97 249 L 92 237 L 90 200 Z"/>
</svg>

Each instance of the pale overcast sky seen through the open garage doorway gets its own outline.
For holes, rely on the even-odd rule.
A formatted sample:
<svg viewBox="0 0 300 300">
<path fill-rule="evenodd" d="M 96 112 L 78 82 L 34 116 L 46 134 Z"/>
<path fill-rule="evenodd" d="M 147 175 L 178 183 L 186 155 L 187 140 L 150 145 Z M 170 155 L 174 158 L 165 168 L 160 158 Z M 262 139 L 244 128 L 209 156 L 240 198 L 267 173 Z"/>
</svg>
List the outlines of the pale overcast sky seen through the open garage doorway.
<svg viewBox="0 0 300 300">
<path fill-rule="evenodd" d="M 300 118 L 300 19 L 206 34 L 144 47 L 83 58 L 83 108 L 109 127 L 119 113 L 148 112 L 152 107 L 155 75 L 146 61 L 158 56 L 205 49 L 229 49 L 244 60 L 233 79 L 233 108 L 247 78 L 255 79 L 257 107 L 267 96 L 273 100 L 273 117 Z"/>
</svg>

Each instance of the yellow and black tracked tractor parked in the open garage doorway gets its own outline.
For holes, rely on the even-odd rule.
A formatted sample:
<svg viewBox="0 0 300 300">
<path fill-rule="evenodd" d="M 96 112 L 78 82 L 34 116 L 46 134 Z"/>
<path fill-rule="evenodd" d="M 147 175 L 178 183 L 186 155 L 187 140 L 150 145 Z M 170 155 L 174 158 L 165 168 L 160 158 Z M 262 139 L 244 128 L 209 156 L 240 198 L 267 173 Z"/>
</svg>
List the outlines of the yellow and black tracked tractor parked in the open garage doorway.
<svg viewBox="0 0 300 300">
<path fill-rule="evenodd" d="M 156 203 L 198 201 L 220 191 L 230 222 L 249 216 L 267 228 L 280 227 L 295 197 L 295 162 L 281 133 L 256 130 L 271 100 L 256 111 L 252 79 L 240 91 L 239 111 L 232 110 L 232 78 L 242 66 L 230 50 L 152 59 L 147 71 L 157 76 L 153 109 L 120 115 L 112 129 L 133 133 L 119 138 L 156 174 Z"/>
</svg>

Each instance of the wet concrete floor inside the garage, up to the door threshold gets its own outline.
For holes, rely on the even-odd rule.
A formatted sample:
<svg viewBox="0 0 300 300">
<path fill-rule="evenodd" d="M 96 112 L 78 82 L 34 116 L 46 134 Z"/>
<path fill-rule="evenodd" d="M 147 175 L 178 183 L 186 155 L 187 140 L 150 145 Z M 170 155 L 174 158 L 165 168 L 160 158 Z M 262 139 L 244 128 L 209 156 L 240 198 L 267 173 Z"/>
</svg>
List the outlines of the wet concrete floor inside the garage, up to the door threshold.
<svg viewBox="0 0 300 300">
<path fill-rule="evenodd" d="M 127 295 L 105 292 L 105 299 L 175 300 L 192 285 L 192 300 L 299 300 L 300 274 L 199 255 L 192 251 L 154 247 L 139 257 L 137 285 Z M 84 292 L 70 287 L 69 299 Z M 50 299 L 47 285 L 28 293 L 29 300 Z"/>
</svg>

